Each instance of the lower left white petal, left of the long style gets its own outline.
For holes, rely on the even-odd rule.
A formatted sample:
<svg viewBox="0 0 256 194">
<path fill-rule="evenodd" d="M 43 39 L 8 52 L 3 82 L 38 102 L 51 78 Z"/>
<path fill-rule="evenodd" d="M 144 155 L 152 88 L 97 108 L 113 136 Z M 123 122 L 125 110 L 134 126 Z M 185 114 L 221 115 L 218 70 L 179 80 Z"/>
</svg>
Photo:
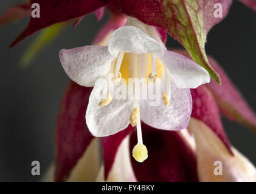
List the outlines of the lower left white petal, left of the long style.
<svg viewBox="0 0 256 194">
<path fill-rule="evenodd" d="M 126 129 L 130 123 L 132 112 L 132 101 L 114 99 L 104 107 L 99 106 L 101 99 L 97 98 L 99 91 L 102 91 L 102 82 L 96 81 L 94 89 L 89 98 L 86 110 L 86 124 L 94 136 L 102 137 L 113 135 L 120 130 Z"/>
</svg>

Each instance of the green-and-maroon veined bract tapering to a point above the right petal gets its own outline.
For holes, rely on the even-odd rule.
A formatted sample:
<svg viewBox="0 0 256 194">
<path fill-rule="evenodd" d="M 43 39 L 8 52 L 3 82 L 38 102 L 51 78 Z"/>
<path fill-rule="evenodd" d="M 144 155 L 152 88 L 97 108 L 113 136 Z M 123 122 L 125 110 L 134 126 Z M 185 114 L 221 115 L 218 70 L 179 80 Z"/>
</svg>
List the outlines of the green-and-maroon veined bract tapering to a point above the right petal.
<svg viewBox="0 0 256 194">
<path fill-rule="evenodd" d="M 215 1 L 200 0 L 165 0 L 164 15 L 170 19 L 168 31 L 185 47 L 192 59 L 204 67 L 221 84 L 220 76 L 210 65 L 204 49 L 207 32 L 216 23 L 220 22 L 229 10 L 231 1 L 218 1 L 221 4 L 222 18 L 214 16 Z"/>
</svg>

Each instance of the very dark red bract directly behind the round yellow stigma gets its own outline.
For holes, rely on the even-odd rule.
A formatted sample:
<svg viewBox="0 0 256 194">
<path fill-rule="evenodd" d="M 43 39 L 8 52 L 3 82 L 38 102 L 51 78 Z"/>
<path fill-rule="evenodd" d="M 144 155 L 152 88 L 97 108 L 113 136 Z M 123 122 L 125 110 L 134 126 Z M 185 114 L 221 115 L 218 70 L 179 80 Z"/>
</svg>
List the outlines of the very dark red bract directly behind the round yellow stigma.
<svg viewBox="0 0 256 194">
<path fill-rule="evenodd" d="M 142 163 L 131 158 L 137 181 L 198 181 L 195 155 L 178 132 L 157 130 L 142 124 L 142 135 L 148 158 Z M 130 152 L 136 144 L 137 134 L 134 131 Z"/>
</svg>

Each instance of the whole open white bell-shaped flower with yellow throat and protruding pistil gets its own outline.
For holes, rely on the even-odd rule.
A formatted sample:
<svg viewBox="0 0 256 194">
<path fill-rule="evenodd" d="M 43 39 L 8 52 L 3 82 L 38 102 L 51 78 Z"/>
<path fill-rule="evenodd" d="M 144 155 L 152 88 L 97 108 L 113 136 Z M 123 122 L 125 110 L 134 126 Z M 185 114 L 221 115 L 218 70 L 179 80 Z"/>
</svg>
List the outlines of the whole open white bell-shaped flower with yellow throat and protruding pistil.
<svg viewBox="0 0 256 194">
<path fill-rule="evenodd" d="M 113 135 L 129 124 L 136 125 L 138 144 L 134 147 L 133 156 L 140 162 L 147 158 L 140 119 L 156 129 L 184 129 L 192 112 L 189 89 L 210 81 L 209 73 L 200 65 L 168 51 L 162 42 L 134 26 L 118 28 L 112 33 L 108 46 L 63 49 L 60 61 L 73 81 L 85 87 L 94 87 L 86 110 L 86 124 L 92 135 Z M 99 78 L 105 78 L 106 82 Z M 149 85 L 153 85 L 155 90 L 157 85 L 161 85 L 159 93 L 162 101 L 151 105 L 150 100 L 140 97 L 114 98 L 116 83 L 130 85 L 131 78 L 144 79 L 145 82 L 140 84 L 148 85 L 148 90 Z M 114 87 L 110 86 L 111 81 L 116 82 Z M 99 98 L 99 93 L 105 89 L 105 97 Z M 129 92 L 125 97 L 130 96 Z M 135 87 L 133 92 L 135 95 L 139 93 L 139 96 L 145 93 L 140 87 Z"/>
</svg>

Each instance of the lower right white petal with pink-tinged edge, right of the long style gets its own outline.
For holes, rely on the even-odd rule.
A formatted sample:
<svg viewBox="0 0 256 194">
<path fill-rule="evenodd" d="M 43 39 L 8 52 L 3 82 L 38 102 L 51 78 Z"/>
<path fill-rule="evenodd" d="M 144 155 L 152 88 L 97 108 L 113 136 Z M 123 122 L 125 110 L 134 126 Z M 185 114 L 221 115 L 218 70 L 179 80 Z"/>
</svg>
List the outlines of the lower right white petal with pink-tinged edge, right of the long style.
<svg viewBox="0 0 256 194">
<path fill-rule="evenodd" d="M 168 106 L 150 106 L 148 101 L 140 101 L 140 118 L 146 124 L 157 129 L 180 130 L 189 123 L 192 111 L 192 98 L 189 89 L 178 89 L 171 83 L 171 99 Z"/>
</svg>

